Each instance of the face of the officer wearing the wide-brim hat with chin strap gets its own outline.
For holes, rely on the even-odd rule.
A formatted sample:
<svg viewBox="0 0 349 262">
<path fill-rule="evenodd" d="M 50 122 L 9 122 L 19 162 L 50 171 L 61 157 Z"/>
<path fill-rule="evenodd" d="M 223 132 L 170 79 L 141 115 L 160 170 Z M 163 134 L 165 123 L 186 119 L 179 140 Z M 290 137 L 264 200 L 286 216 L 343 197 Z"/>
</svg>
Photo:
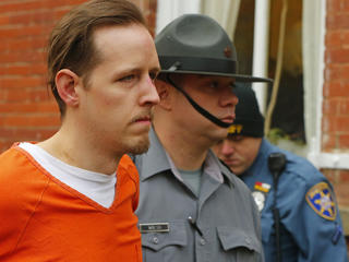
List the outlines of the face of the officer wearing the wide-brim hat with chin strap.
<svg viewBox="0 0 349 262">
<path fill-rule="evenodd" d="M 184 74 L 181 78 L 179 86 L 195 103 L 219 120 L 227 123 L 233 122 L 234 108 L 238 104 L 238 97 L 233 93 L 233 79 L 197 74 Z M 185 130 L 207 136 L 214 142 L 227 136 L 226 128 L 220 128 L 200 115 L 181 93 L 177 92 L 173 103 L 176 115 Z"/>
</svg>

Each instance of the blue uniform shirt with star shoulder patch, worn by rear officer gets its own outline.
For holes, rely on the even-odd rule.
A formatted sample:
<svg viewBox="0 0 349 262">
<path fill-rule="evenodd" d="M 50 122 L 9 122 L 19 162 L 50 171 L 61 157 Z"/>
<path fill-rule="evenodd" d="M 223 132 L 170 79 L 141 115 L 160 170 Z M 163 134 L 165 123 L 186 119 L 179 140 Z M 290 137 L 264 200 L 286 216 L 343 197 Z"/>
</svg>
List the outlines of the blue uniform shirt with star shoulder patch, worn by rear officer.
<svg viewBox="0 0 349 262">
<path fill-rule="evenodd" d="M 262 241 L 265 261 L 276 261 L 273 217 L 273 176 L 267 166 L 270 153 L 281 152 L 287 164 L 279 176 L 277 207 L 281 223 L 282 262 L 348 261 L 347 246 L 333 188 L 305 158 L 262 141 L 254 164 L 242 176 L 262 210 Z"/>
</svg>

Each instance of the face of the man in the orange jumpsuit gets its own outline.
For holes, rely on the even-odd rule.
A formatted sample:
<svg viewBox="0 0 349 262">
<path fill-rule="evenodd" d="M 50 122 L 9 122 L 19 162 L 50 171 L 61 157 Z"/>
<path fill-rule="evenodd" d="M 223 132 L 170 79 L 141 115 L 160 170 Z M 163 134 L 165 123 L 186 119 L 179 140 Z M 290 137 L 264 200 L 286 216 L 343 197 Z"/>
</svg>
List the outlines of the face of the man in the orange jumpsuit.
<svg viewBox="0 0 349 262">
<path fill-rule="evenodd" d="M 113 154 L 148 148 L 151 112 L 159 97 L 153 80 L 159 62 L 145 27 L 104 26 L 94 33 L 101 62 L 80 88 L 79 123 L 91 140 Z"/>
</svg>

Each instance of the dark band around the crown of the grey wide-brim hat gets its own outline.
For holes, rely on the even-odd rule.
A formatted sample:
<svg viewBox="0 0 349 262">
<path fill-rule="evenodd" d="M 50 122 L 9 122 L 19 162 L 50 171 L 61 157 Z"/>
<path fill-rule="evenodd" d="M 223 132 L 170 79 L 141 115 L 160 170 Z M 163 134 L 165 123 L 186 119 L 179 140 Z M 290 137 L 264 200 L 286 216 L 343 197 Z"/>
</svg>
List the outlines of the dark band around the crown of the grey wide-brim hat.
<svg viewBox="0 0 349 262">
<path fill-rule="evenodd" d="M 161 69 L 166 71 L 215 72 L 225 74 L 237 73 L 237 62 L 233 60 L 159 56 Z M 173 64 L 176 64 L 173 67 Z"/>
</svg>

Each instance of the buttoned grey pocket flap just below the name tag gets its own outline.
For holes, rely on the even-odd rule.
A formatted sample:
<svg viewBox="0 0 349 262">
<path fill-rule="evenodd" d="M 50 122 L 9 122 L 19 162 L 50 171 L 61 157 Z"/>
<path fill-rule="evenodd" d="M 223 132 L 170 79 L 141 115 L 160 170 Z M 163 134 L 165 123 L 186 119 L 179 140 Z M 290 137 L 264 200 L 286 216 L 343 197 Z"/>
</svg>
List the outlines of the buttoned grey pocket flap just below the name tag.
<svg viewBox="0 0 349 262">
<path fill-rule="evenodd" d="M 169 231 L 142 233 L 142 247 L 158 251 L 167 246 L 181 246 L 188 243 L 185 225 L 181 222 L 169 223 Z"/>
</svg>

